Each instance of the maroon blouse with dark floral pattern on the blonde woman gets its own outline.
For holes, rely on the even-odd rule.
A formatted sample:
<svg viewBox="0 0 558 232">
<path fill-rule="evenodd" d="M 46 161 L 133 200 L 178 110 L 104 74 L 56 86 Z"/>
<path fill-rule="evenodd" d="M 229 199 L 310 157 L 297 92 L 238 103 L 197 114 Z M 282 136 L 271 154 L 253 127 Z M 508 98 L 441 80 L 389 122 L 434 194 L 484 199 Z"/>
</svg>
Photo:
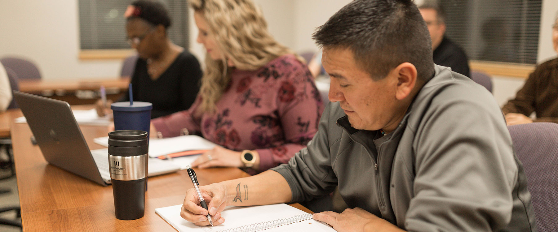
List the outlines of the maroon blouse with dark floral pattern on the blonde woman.
<svg viewBox="0 0 558 232">
<path fill-rule="evenodd" d="M 153 119 L 163 136 L 182 129 L 234 151 L 257 150 L 262 172 L 286 163 L 318 131 L 323 102 L 310 71 L 294 55 L 283 55 L 256 71 L 233 70 L 215 113 L 189 110 Z"/>
</svg>

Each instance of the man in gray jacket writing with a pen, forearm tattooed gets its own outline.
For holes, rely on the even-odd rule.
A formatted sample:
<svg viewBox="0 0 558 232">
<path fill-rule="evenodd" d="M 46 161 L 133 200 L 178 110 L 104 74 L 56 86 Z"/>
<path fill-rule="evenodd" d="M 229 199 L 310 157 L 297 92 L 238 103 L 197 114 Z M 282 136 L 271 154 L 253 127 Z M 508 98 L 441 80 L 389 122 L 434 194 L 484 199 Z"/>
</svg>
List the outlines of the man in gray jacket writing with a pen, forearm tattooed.
<svg viewBox="0 0 558 232">
<path fill-rule="evenodd" d="M 411 0 L 353 1 L 314 39 L 333 102 L 318 133 L 288 164 L 200 187 L 214 225 L 227 205 L 300 202 L 339 186 L 351 209 L 314 214 L 338 231 L 536 231 L 499 106 L 434 65 Z M 199 201 L 187 191 L 181 216 L 208 225 Z"/>
</svg>

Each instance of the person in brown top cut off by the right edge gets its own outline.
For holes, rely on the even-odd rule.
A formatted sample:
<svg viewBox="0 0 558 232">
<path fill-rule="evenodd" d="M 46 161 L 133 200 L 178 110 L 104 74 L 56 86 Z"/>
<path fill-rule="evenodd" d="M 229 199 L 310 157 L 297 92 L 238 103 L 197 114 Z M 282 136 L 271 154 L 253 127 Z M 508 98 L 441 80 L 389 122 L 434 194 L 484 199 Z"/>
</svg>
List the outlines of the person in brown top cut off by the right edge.
<svg viewBox="0 0 558 232">
<path fill-rule="evenodd" d="M 552 27 L 552 43 L 558 53 L 558 14 Z M 509 125 L 531 122 L 558 123 L 558 58 L 539 65 L 502 111 Z M 529 115 L 536 113 L 536 119 Z"/>
</svg>

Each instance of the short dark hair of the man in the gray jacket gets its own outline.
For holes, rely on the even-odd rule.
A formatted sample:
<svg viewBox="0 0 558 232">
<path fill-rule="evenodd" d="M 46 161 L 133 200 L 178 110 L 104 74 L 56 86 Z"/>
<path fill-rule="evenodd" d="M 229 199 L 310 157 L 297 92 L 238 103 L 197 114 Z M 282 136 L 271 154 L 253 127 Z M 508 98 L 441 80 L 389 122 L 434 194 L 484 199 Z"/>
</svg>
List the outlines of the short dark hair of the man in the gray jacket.
<svg viewBox="0 0 558 232">
<path fill-rule="evenodd" d="M 434 76 L 430 33 L 411 0 L 355 0 L 316 29 L 313 38 L 326 50 L 351 50 L 373 80 L 404 62 L 415 65 L 421 81 Z"/>
</svg>

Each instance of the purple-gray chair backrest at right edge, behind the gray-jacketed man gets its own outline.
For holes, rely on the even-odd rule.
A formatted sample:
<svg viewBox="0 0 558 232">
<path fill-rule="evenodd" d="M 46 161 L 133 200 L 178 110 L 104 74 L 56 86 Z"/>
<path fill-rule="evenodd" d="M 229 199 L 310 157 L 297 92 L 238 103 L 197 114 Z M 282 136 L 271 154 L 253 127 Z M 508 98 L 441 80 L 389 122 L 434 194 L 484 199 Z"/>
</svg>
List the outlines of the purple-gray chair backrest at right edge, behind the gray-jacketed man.
<svg viewBox="0 0 558 232">
<path fill-rule="evenodd" d="M 558 124 L 508 126 L 523 163 L 539 232 L 558 231 Z"/>
</svg>

